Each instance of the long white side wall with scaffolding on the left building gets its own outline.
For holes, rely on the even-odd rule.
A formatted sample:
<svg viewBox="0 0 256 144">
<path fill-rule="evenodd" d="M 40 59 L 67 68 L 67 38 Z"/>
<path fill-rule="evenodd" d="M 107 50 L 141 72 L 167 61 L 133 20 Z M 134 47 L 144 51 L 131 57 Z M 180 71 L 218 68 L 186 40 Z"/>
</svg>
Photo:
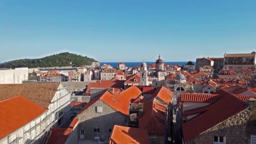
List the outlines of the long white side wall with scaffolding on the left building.
<svg viewBox="0 0 256 144">
<path fill-rule="evenodd" d="M 50 128 L 60 128 L 70 120 L 70 93 L 60 84 L 48 110 L 13 133 L 0 139 L 0 144 L 41 144 Z"/>
</svg>

